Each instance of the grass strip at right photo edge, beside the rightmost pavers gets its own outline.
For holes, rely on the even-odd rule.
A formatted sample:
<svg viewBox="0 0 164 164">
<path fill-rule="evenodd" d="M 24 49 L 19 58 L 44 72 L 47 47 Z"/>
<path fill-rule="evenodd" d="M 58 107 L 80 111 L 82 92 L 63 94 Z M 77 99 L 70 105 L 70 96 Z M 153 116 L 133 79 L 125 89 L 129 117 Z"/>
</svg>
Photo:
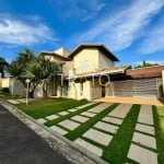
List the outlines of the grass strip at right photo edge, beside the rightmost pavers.
<svg viewBox="0 0 164 164">
<path fill-rule="evenodd" d="M 159 164 L 164 163 L 164 106 L 153 106 Z"/>
</svg>

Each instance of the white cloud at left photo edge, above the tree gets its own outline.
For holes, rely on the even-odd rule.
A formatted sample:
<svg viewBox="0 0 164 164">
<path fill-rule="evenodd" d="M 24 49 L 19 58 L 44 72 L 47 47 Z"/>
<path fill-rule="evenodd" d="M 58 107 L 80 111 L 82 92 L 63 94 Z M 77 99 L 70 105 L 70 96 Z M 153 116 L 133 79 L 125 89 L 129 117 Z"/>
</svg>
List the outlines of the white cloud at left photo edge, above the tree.
<svg viewBox="0 0 164 164">
<path fill-rule="evenodd" d="M 52 39 L 51 31 L 43 23 L 24 23 L 7 14 L 0 14 L 0 42 L 13 45 L 32 45 Z"/>
</svg>

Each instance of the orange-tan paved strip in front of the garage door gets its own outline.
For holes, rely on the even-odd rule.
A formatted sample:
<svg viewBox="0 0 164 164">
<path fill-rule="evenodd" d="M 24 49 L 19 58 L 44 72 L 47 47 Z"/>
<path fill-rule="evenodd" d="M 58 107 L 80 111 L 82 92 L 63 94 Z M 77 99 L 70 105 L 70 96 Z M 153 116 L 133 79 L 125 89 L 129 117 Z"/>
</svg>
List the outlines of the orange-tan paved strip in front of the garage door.
<svg viewBox="0 0 164 164">
<path fill-rule="evenodd" d="M 126 104 L 148 104 L 164 106 L 164 103 L 156 98 L 140 98 L 140 97 L 103 97 L 95 99 L 95 102 L 106 102 L 106 103 L 126 103 Z"/>
</svg>

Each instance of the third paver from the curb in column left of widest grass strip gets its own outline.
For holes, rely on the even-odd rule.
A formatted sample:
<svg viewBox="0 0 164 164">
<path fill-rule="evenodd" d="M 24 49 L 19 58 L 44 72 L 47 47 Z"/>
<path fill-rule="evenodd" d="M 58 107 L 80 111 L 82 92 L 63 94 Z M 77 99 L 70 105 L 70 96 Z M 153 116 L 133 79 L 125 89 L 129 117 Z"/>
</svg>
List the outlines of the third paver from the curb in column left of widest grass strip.
<svg viewBox="0 0 164 164">
<path fill-rule="evenodd" d="M 109 124 L 106 124 L 106 122 L 103 122 L 103 121 L 98 121 L 94 127 L 96 127 L 101 130 L 112 132 L 112 133 L 116 133 L 117 130 L 118 130 L 117 126 L 109 125 Z"/>
</svg>

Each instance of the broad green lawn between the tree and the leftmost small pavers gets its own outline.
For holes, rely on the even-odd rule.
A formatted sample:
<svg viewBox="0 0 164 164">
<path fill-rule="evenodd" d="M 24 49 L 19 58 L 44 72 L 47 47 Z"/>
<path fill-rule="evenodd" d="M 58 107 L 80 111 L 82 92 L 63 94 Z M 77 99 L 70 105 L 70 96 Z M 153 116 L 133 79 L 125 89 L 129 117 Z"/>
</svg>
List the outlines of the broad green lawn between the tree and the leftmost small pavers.
<svg viewBox="0 0 164 164">
<path fill-rule="evenodd" d="M 48 99 L 35 99 L 30 102 L 28 105 L 17 104 L 21 110 L 25 112 L 27 115 L 33 118 L 43 118 L 51 114 L 56 114 L 62 110 L 67 110 L 83 104 L 86 104 L 87 101 L 75 101 L 68 98 L 48 98 Z"/>
</svg>

